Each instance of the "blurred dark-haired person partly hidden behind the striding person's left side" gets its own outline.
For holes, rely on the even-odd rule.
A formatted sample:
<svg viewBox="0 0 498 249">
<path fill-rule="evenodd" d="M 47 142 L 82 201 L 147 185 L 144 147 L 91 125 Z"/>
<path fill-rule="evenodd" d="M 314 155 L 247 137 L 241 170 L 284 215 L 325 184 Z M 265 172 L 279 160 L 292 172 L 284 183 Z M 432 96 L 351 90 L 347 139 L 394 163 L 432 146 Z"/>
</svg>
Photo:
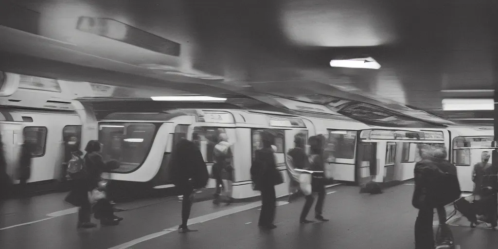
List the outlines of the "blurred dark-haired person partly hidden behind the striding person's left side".
<svg viewBox="0 0 498 249">
<path fill-rule="evenodd" d="M 287 152 L 287 173 L 289 174 L 289 202 L 297 195 L 299 192 L 299 173 L 294 169 L 305 169 L 308 168 L 308 156 L 306 155 L 305 146 L 305 135 L 302 133 L 294 135 L 294 148 Z"/>
</svg>

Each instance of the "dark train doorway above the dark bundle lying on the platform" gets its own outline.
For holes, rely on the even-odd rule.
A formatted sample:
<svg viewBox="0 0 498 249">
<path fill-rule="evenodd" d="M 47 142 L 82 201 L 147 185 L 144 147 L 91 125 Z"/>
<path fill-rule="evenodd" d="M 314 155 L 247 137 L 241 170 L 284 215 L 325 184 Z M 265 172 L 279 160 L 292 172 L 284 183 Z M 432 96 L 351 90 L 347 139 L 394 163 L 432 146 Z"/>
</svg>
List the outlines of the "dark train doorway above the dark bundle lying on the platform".
<svg viewBox="0 0 498 249">
<path fill-rule="evenodd" d="M 377 143 L 359 142 L 356 158 L 357 182 L 359 185 L 367 184 L 372 176 L 377 175 Z"/>
</svg>

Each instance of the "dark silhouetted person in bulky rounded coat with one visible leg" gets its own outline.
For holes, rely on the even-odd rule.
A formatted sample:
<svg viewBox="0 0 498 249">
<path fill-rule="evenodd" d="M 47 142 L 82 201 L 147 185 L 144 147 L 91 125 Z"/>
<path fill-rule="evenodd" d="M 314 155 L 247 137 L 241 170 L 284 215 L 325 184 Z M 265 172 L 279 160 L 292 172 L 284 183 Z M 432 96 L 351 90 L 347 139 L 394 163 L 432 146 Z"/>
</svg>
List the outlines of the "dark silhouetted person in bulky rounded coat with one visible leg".
<svg viewBox="0 0 498 249">
<path fill-rule="evenodd" d="M 182 224 L 178 227 L 178 232 L 196 231 L 188 229 L 187 222 L 190 217 L 195 189 L 205 187 L 209 179 L 206 163 L 196 144 L 185 138 L 180 139 L 173 148 L 169 163 L 173 184 L 183 195 Z"/>
</svg>

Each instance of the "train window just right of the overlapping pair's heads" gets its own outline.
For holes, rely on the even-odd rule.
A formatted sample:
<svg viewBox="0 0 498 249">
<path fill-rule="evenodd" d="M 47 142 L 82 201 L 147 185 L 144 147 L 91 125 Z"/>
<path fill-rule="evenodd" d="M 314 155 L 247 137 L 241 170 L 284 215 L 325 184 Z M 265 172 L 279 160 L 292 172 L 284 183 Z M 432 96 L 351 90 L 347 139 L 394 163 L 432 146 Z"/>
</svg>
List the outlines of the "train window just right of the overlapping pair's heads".
<svg viewBox="0 0 498 249">
<path fill-rule="evenodd" d="M 329 130 L 329 139 L 325 144 L 327 161 L 332 162 L 333 158 L 355 158 L 356 135 L 357 131 L 353 130 Z"/>
</svg>

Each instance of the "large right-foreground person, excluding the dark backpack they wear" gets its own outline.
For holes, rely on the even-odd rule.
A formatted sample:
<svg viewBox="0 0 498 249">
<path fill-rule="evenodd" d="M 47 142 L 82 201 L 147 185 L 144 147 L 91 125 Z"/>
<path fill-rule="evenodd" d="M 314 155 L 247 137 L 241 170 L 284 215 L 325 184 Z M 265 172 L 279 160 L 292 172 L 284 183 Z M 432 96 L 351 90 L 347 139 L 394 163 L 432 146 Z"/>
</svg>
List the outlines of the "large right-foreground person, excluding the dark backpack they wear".
<svg viewBox="0 0 498 249">
<path fill-rule="evenodd" d="M 434 208 L 437 209 L 443 237 L 451 233 L 444 226 L 446 224 L 444 206 L 436 204 L 435 190 L 436 186 L 438 186 L 439 172 L 441 170 L 453 175 L 456 175 L 457 172 L 454 172 L 454 167 L 451 167 L 451 163 L 446 160 L 447 152 L 445 148 L 421 144 L 419 145 L 419 153 L 422 160 L 415 164 L 415 190 L 412 197 L 413 207 L 419 210 L 415 221 L 415 248 L 432 249 L 435 246 L 432 231 Z M 449 243 L 449 241 L 443 243 Z"/>
</svg>

